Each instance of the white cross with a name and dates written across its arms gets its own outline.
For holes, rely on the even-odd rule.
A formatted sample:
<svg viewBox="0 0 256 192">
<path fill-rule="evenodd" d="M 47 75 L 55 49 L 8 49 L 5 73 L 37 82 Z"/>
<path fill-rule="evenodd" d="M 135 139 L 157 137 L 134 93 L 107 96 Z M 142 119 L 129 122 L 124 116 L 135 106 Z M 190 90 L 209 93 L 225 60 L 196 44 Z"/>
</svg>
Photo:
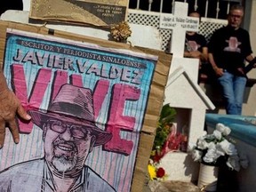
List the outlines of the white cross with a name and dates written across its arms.
<svg viewBox="0 0 256 192">
<path fill-rule="evenodd" d="M 173 14 L 161 13 L 160 28 L 172 29 L 170 52 L 180 58 L 184 54 L 186 31 L 198 31 L 199 18 L 188 17 L 188 3 L 175 2 Z"/>
</svg>

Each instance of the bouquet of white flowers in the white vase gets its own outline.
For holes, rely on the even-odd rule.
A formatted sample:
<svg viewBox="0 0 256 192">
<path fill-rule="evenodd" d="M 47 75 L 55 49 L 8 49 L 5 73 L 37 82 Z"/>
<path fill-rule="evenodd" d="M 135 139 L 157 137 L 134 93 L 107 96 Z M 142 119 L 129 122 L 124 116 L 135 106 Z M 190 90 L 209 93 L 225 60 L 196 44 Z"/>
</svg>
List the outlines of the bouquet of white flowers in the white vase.
<svg viewBox="0 0 256 192">
<path fill-rule="evenodd" d="M 231 132 L 228 126 L 217 124 L 212 134 L 205 134 L 196 141 L 196 145 L 189 146 L 188 153 L 194 161 L 202 164 L 220 166 L 226 164 L 231 170 L 246 168 L 248 161 L 246 156 L 238 156 L 236 146 L 227 138 Z"/>
</svg>

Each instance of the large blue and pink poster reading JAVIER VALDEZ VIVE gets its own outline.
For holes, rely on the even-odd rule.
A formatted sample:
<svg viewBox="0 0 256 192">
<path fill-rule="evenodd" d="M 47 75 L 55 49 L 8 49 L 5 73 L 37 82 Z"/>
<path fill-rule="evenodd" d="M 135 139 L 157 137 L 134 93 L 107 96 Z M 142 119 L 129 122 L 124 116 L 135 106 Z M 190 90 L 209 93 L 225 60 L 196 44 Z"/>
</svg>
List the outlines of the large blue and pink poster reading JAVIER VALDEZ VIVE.
<svg viewBox="0 0 256 192">
<path fill-rule="evenodd" d="M 0 191 L 130 191 L 156 61 L 8 28 L 4 76 L 32 120 L 18 145 L 6 133 Z"/>
</svg>

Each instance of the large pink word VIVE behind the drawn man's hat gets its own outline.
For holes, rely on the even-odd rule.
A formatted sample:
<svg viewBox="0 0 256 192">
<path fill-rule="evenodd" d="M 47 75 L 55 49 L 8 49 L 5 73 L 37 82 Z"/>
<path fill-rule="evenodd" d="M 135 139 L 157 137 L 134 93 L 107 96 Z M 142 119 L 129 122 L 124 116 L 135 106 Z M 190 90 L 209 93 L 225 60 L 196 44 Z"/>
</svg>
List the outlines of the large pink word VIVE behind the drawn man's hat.
<svg viewBox="0 0 256 192">
<path fill-rule="evenodd" d="M 47 68 L 39 69 L 29 98 L 27 94 L 27 83 L 23 66 L 19 64 L 12 65 L 12 82 L 13 90 L 19 98 L 22 106 L 28 111 L 30 109 L 38 109 L 43 102 L 44 93 L 49 86 L 52 78 L 52 70 Z M 82 76 L 70 76 L 71 84 L 83 86 Z M 59 92 L 63 84 L 68 83 L 68 73 L 66 71 L 56 71 L 52 81 L 52 96 L 54 98 Z M 95 119 L 99 116 L 102 103 L 105 100 L 109 89 L 108 80 L 99 80 L 95 84 L 93 92 Z M 132 132 L 135 125 L 135 117 L 124 116 L 124 104 L 126 100 L 139 100 L 140 90 L 134 86 L 127 84 L 115 84 L 111 95 L 110 105 L 108 109 L 107 132 L 113 134 L 104 149 L 122 153 L 126 156 L 131 154 L 133 142 L 132 140 L 124 140 L 120 137 L 120 132 Z M 19 119 L 20 132 L 30 133 L 33 129 L 33 123 L 23 123 Z"/>
</svg>

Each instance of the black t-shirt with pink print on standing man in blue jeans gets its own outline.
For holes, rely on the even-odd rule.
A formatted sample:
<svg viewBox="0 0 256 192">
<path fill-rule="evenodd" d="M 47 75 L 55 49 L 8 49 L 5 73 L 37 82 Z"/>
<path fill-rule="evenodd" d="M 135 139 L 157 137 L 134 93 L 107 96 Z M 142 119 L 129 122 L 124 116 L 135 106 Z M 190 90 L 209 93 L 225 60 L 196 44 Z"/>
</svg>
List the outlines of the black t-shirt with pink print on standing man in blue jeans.
<svg viewBox="0 0 256 192">
<path fill-rule="evenodd" d="M 220 28 L 213 33 L 208 52 L 219 68 L 236 73 L 236 68 L 244 68 L 244 59 L 252 53 L 249 33 L 243 28 Z"/>
</svg>

